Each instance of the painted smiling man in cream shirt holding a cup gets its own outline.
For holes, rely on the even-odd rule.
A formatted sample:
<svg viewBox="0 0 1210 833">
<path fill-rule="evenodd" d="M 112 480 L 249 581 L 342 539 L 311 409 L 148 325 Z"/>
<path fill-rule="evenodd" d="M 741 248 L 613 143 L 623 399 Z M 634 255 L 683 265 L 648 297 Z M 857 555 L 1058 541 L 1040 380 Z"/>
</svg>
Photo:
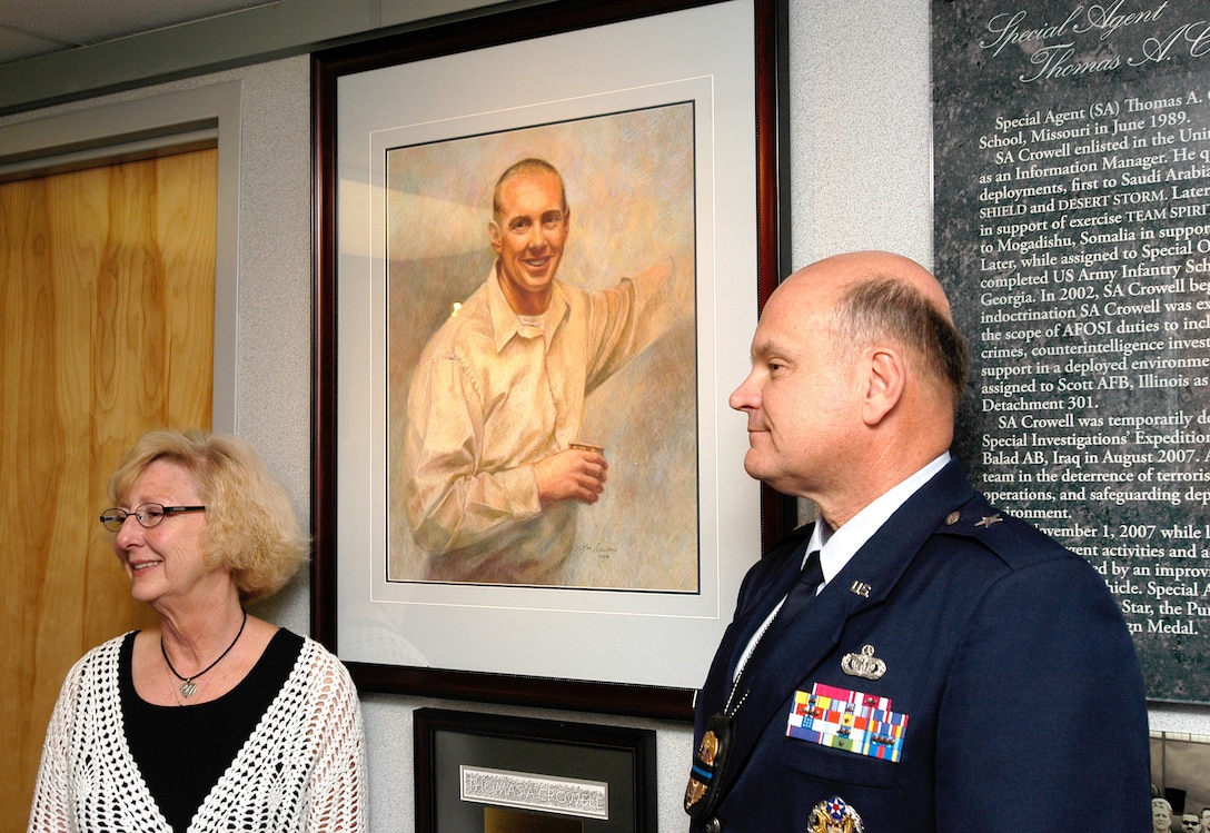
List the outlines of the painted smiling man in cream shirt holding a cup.
<svg viewBox="0 0 1210 833">
<path fill-rule="evenodd" d="M 488 280 L 430 339 L 408 397 L 404 509 L 437 581 L 559 585 L 576 510 L 609 465 L 580 437 L 584 398 L 688 310 L 672 268 L 600 292 L 555 278 L 571 229 L 559 172 L 496 183 Z"/>
</svg>

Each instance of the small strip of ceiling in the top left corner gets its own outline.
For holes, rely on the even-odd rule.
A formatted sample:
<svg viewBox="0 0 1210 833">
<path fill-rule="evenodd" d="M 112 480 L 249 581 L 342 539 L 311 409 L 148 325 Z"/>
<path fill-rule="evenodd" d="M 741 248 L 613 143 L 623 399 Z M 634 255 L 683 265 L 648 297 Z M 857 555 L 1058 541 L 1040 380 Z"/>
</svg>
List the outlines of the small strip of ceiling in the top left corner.
<svg viewBox="0 0 1210 833">
<path fill-rule="evenodd" d="M 0 64 L 283 0 L 4 0 Z"/>
</svg>

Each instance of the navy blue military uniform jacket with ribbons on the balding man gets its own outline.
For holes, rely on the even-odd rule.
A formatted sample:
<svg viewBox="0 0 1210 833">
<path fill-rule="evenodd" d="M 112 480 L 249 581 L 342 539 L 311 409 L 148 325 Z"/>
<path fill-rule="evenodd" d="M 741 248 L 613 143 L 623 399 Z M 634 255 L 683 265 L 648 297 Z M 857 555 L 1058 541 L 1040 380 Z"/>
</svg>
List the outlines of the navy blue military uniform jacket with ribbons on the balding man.
<svg viewBox="0 0 1210 833">
<path fill-rule="evenodd" d="M 778 602 L 770 585 L 801 558 L 809 532 L 745 576 L 698 696 L 695 748 L 724 710 L 743 647 Z M 885 670 L 872 679 L 878 661 Z M 990 506 L 953 461 L 796 621 L 774 622 L 741 689 L 730 762 L 714 787 L 721 798 L 693 831 L 802 833 L 814 829 L 812 809 L 832 798 L 865 833 L 1151 823 L 1143 679 L 1104 579 Z M 852 695 L 851 708 L 837 707 L 843 696 L 823 700 L 837 691 Z M 842 726 L 846 711 L 847 736 L 812 735 Z M 788 735 L 791 713 L 799 725 Z"/>
</svg>

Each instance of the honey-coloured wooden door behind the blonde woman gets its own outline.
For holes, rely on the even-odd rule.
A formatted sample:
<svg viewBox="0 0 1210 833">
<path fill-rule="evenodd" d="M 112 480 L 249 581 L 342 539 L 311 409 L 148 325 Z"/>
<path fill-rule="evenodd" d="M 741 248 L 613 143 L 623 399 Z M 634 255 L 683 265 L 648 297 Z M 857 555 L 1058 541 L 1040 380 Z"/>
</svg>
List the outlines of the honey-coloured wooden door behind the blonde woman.
<svg viewBox="0 0 1210 833">
<path fill-rule="evenodd" d="M 0 184 L 0 831 L 25 829 L 58 689 L 152 620 L 97 516 L 152 427 L 209 427 L 214 149 Z"/>
</svg>

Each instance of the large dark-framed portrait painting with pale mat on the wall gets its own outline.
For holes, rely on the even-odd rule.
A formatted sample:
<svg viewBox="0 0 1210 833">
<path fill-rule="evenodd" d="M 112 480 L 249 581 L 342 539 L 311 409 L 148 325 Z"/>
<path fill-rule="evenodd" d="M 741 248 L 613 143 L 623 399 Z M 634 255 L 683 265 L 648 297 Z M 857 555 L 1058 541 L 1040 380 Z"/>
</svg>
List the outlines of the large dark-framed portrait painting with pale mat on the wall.
<svg viewBox="0 0 1210 833">
<path fill-rule="evenodd" d="M 686 717 L 793 518 L 726 406 L 784 4 L 618 5 L 313 56 L 313 625 L 363 686 Z"/>
</svg>

